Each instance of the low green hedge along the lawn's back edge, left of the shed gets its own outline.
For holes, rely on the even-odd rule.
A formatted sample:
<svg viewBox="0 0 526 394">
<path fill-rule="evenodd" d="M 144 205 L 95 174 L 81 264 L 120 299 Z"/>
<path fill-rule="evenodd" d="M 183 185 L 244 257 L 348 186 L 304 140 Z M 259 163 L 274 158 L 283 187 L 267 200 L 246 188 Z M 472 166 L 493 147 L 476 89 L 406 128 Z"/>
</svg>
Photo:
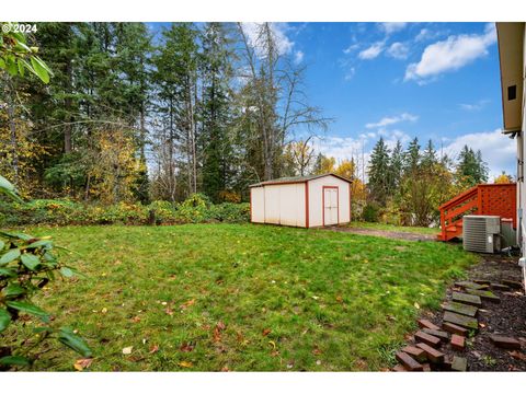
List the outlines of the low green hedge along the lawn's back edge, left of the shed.
<svg viewBox="0 0 526 394">
<path fill-rule="evenodd" d="M 211 204 L 201 194 L 180 204 L 153 201 L 150 205 L 119 202 L 98 206 L 67 199 L 39 199 L 27 204 L 0 201 L 0 228 L 27 224 L 148 224 L 153 212 L 156 224 L 204 222 L 239 223 L 250 220 L 250 205 Z"/>
</svg>

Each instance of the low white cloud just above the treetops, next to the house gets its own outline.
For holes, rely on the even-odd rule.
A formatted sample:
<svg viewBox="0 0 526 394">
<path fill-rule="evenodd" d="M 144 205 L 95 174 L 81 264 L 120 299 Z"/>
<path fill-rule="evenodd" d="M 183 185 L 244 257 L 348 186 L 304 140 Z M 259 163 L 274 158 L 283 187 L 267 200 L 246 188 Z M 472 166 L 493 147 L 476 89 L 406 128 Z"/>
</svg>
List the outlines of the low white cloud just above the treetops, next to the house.
<svg viewBox="0 0 526 394">
<path fill-rule="evenodd" d="M 482 152 L 482 159 L 490 169 L 490 181 L 505 171 L 515 175 L 516 141 L 504 136 L 501 129 L 494 131 L 472 132 L 455 138 L 444 147 L 444 153 L 457 158 L 464 146 Z"/>
</svg>

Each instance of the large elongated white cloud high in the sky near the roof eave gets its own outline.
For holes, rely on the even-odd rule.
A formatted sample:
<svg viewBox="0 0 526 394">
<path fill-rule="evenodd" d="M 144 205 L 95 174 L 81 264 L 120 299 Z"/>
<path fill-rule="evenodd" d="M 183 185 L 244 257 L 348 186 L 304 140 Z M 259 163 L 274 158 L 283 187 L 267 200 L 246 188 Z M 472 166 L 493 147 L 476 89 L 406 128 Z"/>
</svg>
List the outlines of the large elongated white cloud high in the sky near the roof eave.
<svg viewBox="0 0 526 394">
<path fill-rule="evenodd" d="M 404 80 L 425 82 L 430 78 L 459 68 L 485 56 L 488 47 L 496 42 L 493 23 L 488 23 L 483 34 L 451 35 L 445 40 L 428 45 L 419 62 L 408 66 Z"/>
</svg>

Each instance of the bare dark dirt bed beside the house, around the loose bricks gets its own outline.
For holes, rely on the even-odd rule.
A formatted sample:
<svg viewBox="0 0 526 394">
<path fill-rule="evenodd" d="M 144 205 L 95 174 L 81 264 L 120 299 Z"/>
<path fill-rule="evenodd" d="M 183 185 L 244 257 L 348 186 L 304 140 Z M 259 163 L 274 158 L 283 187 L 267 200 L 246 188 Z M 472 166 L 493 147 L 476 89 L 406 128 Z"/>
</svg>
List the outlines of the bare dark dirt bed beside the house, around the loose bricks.
<svg viewBox="0 0 526 394">
<path fill-rule="evenodd" d="M 482 255 L 482 262 L 468 271 L 468 279 L 483 279 L 491 282 L 502 280 L 522 281 L 522 269 L 517 257 Z M 447 290 L 450 300 L 453 291 L 461 291 L 455 286 Z M 483 301 L 479 310 L 479 331 L 468 337 L 465 350 L 454 350 L 450 345 L 443 346 L 446 355 L 465 357 L 469 371 L 526 371 L 526 296 L 524 290 L 492 290 L 501 299 L 500 303 Z M 425 318 L 442 324 L 443 311 L 428 313 Z M 521 350 L 506 350 L 494 346 L 490 335 L 503 335 L 518 339 Z"/>
</svg>

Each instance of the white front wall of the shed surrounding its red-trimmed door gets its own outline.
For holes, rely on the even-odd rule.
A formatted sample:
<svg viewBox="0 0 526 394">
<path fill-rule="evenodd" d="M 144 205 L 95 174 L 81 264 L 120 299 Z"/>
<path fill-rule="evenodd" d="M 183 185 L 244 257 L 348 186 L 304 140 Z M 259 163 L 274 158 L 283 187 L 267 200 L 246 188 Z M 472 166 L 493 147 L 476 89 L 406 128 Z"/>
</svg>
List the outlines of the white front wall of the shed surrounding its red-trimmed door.
<svg viewBox="0 0 526 394">
<path fill-rule="evenodd" d="M 323 186 L 338 186 L 339 223 L 351 221 L 351 184 L 328 175 L 308 182 L 309 227 L 323 225 Z"/>
</svg>

